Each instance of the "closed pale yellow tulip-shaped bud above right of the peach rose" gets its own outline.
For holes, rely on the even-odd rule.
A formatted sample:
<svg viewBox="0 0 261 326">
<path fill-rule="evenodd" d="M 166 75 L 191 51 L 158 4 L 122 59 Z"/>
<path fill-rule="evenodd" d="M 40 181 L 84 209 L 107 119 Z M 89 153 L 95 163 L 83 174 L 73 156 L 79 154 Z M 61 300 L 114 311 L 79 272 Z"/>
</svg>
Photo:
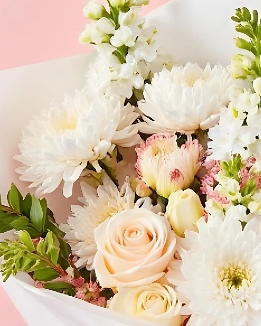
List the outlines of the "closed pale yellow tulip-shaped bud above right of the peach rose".
<svg viewBox="0 0 261 326">
<path fill-rule="evenodd" d="M 196 222 L 203 214 L 200 199 L 192 189 L 177 190 L 169 196 L 165 216 L 178 236 L 184 238 L 186 230 L 197 232 Z"/>
</svg>

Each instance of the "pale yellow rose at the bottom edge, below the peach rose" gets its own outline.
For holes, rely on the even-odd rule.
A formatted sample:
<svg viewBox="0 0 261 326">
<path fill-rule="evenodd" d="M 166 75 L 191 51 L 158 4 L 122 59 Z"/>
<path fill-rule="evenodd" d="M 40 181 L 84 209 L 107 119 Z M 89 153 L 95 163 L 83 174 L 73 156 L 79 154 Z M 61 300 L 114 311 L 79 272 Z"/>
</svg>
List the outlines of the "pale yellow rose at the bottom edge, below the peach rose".
<svg viewBox="0 0 261 326">
<path fill-rule="evenodd" d="M 151 283 L 139 288 L 120 288 L 109 309 L 165 325 L 179 326 L 181 303 L 175 290 L 165 284 Z"/>
</svg>

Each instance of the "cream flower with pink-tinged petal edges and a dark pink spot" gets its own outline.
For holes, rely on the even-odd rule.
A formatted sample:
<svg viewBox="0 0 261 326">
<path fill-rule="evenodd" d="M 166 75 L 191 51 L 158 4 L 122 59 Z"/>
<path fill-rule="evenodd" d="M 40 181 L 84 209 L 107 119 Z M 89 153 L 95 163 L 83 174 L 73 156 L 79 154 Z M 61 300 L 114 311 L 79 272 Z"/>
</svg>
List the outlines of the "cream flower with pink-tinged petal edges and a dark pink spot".
<svg viewBox="0 0 261 326">
<path fill-rule="evenodd" d="M 185 189 L 200 169 L 203 148 L 198 140 L 188 136 L 181 147 L 177 136 L 155 134 L 136 148 L 135 169 L 142 181 L 157 193 L 168 198 L 172 192 Z"/>
</svg>

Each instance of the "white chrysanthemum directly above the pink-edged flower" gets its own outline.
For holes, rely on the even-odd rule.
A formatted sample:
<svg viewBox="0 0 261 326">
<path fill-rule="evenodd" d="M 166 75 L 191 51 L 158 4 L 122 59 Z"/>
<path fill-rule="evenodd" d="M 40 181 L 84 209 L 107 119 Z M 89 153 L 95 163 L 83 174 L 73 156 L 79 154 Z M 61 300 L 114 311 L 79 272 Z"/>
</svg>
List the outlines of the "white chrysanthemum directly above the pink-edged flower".
<svg viewBox="0 0 261 326">
<path fill-rule="evenodd" d="M 233 78 L 222 66 L 202 70 L 190 62 L 185 67 L 163 68 L 151 84 L 145 85 L 139 109 L 145 114 L 141 131 L 190 134 L 208 129 L 219 121 L 219 113 L 229 103 Z"/>
</svg>

